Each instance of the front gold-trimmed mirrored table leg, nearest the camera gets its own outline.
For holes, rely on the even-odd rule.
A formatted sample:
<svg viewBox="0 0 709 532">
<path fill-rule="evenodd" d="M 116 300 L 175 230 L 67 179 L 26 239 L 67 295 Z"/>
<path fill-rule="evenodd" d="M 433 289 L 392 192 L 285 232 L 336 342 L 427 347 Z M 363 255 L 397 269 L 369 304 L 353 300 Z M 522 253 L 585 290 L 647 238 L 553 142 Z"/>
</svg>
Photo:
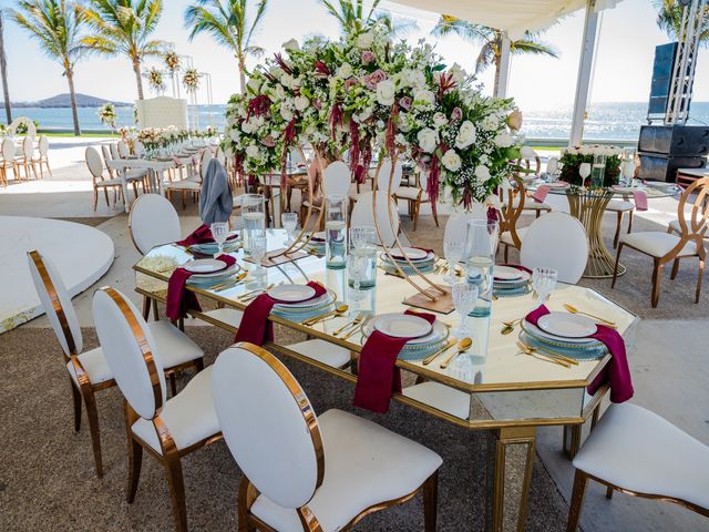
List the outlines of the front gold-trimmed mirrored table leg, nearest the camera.
<svg viewBox="0 0 709 532">
<path fill-rule="evenodd" d="M 489 434 L 485 530 L 522 532 L 527 518 L 536 427 L 508 427 Z M 515 467 L 507 467 L 512 462 Z"/>
</svg>

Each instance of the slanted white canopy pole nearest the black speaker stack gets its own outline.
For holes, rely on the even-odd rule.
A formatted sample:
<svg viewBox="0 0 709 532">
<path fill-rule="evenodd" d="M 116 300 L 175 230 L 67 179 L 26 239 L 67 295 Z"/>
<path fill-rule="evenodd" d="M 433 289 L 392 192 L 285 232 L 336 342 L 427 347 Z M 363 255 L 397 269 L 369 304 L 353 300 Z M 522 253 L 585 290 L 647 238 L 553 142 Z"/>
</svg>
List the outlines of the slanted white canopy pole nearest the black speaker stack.
<svg viewBox="0 0 709 532">
<path fill-rule="evenodd" d="M 576 78 L 576 95 L 574 96 L 574 111 L 572 113 L 569 146 L 579 145 L 584 136 L 584 121 L 586 120 L 586 106 L 588 105 L 588 94 L 590 93 L 597 33 L 598 12 L 596 12 L 596 0 L 588 0 L 584 21 L 580 61 L 578 63 L 578 76 Z"/>
</svg>

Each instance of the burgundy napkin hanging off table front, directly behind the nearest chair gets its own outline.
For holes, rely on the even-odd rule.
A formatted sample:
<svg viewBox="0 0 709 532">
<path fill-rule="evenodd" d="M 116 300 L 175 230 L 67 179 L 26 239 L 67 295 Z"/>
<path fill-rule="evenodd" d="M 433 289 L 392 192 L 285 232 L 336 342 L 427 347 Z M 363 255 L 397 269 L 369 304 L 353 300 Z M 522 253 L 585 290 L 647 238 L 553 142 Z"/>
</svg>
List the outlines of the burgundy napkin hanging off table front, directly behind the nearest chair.
<svg viewBox="0 0 709 532">
<path fill-rule="evenodd" d="M 404 314 L 418 316 L 433 325 L 435 316 L 428 313 L 407 310 Z M 393 338 L 373 330 L 359 354 L 359 376 L 354 387 L 356 407 L 384 413 L 389 410 L 391 392 L 401 392 L 401 371 L 397 368 L 397 357 L 411 338 Z"/>
</svg>

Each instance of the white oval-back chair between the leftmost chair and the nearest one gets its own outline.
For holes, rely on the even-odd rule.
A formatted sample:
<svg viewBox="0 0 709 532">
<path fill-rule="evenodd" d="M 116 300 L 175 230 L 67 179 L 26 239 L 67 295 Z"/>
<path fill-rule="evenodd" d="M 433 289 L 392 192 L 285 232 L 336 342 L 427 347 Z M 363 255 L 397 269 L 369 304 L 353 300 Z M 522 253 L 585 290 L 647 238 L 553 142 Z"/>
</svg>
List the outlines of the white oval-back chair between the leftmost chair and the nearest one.
<svg viewBox="0 0 709 532">
<path fill-rule="evenodd" d="M 164 367 L 166 350 L 155 342 L 152 329 L 137 308 L 115 288 L 93 296 L 93 316 L 101 347 L 125 398 L 129 427 L 129 488 L 135 500 L 143 450 L 167 474 L 175 529 L 187 531 L 187 509 L 182 457 L 222 438 L 212 401 L 212 368 L 199 372 L 177 395 L 167 399 Z"/>
</svg>

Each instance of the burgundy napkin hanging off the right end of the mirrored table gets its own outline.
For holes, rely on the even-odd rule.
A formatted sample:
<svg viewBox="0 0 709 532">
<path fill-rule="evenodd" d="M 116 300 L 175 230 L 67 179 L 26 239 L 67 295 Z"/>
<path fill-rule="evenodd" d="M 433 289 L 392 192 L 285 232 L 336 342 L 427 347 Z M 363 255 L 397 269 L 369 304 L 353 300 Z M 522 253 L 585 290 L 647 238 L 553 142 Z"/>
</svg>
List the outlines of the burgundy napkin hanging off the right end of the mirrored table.
<svg viewBox="0 0 709 532">
<path fill-rule="evenodd" d="M 526 316 L 526 320 L 536 325 L 537 320 L 549 314 L 548 309 L 542 305 L 540 308 L 532 310 Z M 605 325 L 596 324 L 598 330 L 590 335 L 603 341 L 610 352 L 610 361 L 598 374 L 598 376 L 588 385 L 588 393 L 592 396 L 604 382 L 610 385 L 610 400 L 613 402 L 625 402 L 633 397 L 633 380 L 630 378 L 630 368 L 628 368 L 628 358 L 625 352 L 625 342 L 617 330 Z"/>
</svg>

